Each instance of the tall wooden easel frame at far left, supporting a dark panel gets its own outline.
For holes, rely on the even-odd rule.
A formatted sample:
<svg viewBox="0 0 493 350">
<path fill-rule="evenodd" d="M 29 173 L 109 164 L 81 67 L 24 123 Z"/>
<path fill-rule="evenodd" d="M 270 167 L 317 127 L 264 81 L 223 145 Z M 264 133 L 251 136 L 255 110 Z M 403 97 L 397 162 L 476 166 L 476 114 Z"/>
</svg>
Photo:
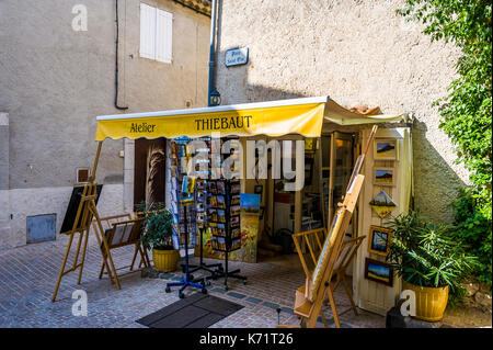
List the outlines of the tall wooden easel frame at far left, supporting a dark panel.
<svg viewBox="0 0 493 350">
<path fill-rule="evenodd" d="M 98 169 L 98 162 L 101 155 L 101 146 L 103 145 L 103 142 L 99 142 L 98 144 L 98 151 L 94 159 L 94 166 L 92 167 L 91 177 L 89 179 L 89 182 L 84 185 L 84 189 L 82 191 L 81 200 L 79 203 L 79 207 L 77 210 L 76 218 L 73 221 L 72 229 L 69 232 L 62 233 L 64 235 L 70 236 L 67 248 L 65 250 L 64 261 L 61 262 L 60 272 L 58 273 L 57 283 L 55 285 L 55 291 L 53 292 L 51 302 L 55 302 L 58 293 L 58 289 L 60 286 L 61 278 L 66 275 L 67 273 L 70 273 L 72 271 L 76 271 L 79 269 L 79 278 L 77 280 L 77 284 L 80 284 L 80 281 L 82 279 L 82 271 L 84 268 L 84 260 L 85 260 L 85 252 L 88 249 L 88 240 L 89 240 L 89 233 L 91 229 L 91 222 L 94 218 L 98 223 L 98 227 L 100 228 L 100 232 L 103 232 L 103 226 L 101 224 L 100 215 L 98 214 L 98 208 L 95 204 L 96 199 L 96 183 L 94 181 L 95 179 L 95 172 Z M 79 241 L 77 244 L 76 249 L 76 256 L 73 258 L 72 267 L 66 270 L 67 260 L 72 247 L 73 237 L 76 234 L 79 234 Z M 108 271 L 108 276 L 112 283 L 116 283 L 116 287 L 119 290 L 119 281 L 118 276 L 116 275 L 116 269 L 113 263 L 112 256 L 110 253 L 108 245 L 106 241 L 106 238 L 104 235 L 100 238 L 99 235 L 95 235 L 98 238 L 98 244 L 100 248 L 102 248 L 102 255 L 103 255 L 103 263 L 106 268 L 106 271 Z M 82 242 L 83 241 L 83 242 Z M 104 248 L 103 248 L 104 247 Z M 82 257 L 81 261 L 79 262 L 79 253 L 82 248 Z"/>
</svg>

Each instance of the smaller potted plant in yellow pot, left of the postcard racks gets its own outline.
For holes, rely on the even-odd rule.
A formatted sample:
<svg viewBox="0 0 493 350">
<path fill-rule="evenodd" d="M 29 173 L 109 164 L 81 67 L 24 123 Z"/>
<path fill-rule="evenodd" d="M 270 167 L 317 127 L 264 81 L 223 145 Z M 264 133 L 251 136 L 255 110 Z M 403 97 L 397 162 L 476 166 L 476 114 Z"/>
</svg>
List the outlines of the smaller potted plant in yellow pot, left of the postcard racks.
<svg viewBox="0 0 493 350">
<path fill-rule="evenodd" d="M 141 203 L 140 212 L 145 223 L 142 245 L 145 249 L 152 248 L 154 269 L 160 272 L 176 270 L 180 252 L 173 247 L 171 212 L 164 208 L 163 203 L 148 206 Z"/>
</svg>

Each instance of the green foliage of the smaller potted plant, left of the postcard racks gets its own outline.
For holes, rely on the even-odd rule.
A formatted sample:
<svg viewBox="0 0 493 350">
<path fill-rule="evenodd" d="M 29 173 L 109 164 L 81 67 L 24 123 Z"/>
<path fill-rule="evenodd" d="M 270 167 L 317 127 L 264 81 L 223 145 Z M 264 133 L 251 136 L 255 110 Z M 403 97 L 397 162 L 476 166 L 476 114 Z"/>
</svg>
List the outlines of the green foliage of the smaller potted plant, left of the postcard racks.
<svg viewBox="0 0 493 350">
<path fill-rule="evenodd" d="M 138 210 L 144 215 L 145 234 L 142 245 L 146 249 L 173 249 L 172 214 L 163 203 L 146 205 L 140 203 Z"/>
</svg>

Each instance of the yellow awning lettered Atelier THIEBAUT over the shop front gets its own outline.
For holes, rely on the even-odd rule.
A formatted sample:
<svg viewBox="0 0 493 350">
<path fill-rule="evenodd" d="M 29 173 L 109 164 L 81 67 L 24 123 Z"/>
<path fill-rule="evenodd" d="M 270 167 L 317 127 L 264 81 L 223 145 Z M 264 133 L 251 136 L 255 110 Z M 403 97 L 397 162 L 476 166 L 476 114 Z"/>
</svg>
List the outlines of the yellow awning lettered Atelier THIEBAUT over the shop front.
<svg viewBox="0 0 493 350">
<path fill-rule="evenodd" d="M 318 137 L 324 122 L 341 125 L 397 121 L 397 115 L 363 115 L 351 112 L 329 97 L 244 103 L 205 109 L 98 116 L 96 140 L 118 138 L 220 136 L 282 136 L 299 134 Z"/>
</svg>

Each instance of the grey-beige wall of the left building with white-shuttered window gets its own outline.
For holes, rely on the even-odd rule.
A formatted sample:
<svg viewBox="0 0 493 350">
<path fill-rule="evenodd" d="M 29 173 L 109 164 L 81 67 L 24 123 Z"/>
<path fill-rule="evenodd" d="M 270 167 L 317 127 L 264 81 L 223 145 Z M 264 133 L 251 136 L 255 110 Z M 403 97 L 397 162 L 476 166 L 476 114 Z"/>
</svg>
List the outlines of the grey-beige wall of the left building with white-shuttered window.
<svg viewBox="0 0 493 350">
<path fill-rule="evenodd" d="M 19 213 L 3 242 L 25 244 L 26 215 L 57 213 L 59 228 L 76 168 L 93 163 L 96 115 L 206 105 L 210 19 L 171 0 L 142 2 L 173 13 L 173 61 L 139 57 L 140 1 L 119 0 L 119 105 L 129 106 L 122 112 L 114 108 L 115 0 L 0 1 L 5 190 Z M 88 9 L 87 32 L 72 30 L 76 4 Z M 124 140 L 103 145 L 96 181 L 107 189 L 99 205 L 105 213 L 124 210 L 123 149 Z M 2 172 L 0 190 L 3 182 Z"/>
</svg>

